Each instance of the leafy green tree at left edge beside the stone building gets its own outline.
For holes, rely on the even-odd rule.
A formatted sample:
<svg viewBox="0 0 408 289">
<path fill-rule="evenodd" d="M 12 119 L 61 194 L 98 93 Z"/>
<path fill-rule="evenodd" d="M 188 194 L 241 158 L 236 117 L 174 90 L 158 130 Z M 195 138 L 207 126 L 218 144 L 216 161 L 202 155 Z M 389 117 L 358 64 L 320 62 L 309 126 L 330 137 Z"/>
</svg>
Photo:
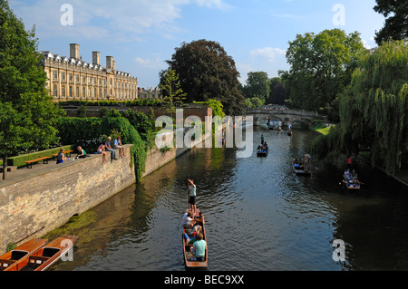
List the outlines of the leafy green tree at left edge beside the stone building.
<svg viewBox="0 0 408 289">
<path fill-rule="evenodd" d="M 8 156 L 46 149 L 58 141 L 55 123 L 63 111 L 46 91 L 43 58 L 36 53 L 34 28 L 25 31 L 24 23 L 16 18 L 6 0 L 0 0 L 0 31 L 0 101 L 1 110 L 7 114 L 1 119 L 0 141 L 5 178 Z"/>
</svg>

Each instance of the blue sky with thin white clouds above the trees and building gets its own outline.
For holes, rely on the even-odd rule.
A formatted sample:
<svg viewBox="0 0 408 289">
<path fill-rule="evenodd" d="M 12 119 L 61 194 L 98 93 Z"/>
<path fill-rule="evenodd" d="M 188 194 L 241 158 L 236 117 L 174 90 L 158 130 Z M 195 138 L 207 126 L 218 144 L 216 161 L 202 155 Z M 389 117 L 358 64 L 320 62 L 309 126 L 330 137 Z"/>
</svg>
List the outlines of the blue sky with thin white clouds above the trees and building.
<svg viewBox="0 0 408 289">
<path fill-rule="evenodd" d="M 207 39 L 224 47 L 236 62 L 240 81 L 248 72 L 277 76 L 288 70 L 285 53 L 296 34 L 340 28 L 358 31 L 367 48 L 384 16 L 375 0 L 9 0 L 26 29 L 35 24 L 39 50 L 69 56 L 69 43 L 80 44 L 83 60 L 101 52 L 112 55 L 116 69 L 130 72 L 139 87 L 156 87 L 176 47 Z M 73 8 L 72 25 L 61 18 Z M 341 9 L 340 9 L 341 8 Z M 344 12 L 344 13 L 343 13 Z M 66 18 L 64 18 L 66 19 Z M 334 21 L 335 20 L 335 21 Z"/>
</svg>

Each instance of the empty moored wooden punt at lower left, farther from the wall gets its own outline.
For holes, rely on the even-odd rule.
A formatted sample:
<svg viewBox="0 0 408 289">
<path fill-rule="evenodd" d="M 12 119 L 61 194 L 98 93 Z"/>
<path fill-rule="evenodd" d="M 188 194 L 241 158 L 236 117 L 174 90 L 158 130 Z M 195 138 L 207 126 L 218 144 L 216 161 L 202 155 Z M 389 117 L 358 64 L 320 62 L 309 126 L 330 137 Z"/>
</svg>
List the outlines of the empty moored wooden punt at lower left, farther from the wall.
<svg viewBox="0 0 408 289">
<path fill-rule="evenodd" d="M 73 247 L 77 238 L 77 236 L 60 236 L 24 258 L 18 267 L 10 267 L 7 271 L 45 271 Z"/>
</svg>

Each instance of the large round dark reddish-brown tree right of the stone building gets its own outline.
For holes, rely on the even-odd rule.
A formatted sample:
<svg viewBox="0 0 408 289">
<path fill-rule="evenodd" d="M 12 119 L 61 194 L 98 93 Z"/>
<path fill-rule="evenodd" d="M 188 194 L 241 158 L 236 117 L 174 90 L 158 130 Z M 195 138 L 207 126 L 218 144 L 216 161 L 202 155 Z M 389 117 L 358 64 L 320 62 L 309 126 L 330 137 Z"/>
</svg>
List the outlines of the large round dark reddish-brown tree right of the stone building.
<svg viewBox="0 0 408 289">
<path fill-rule="evenodd" d="M 175 51 L 166 63 L 179 73 L 180 86 L 188 101 L 213 99 L 221 101 L 228 115 L 243 112 L 245 99 L 238 90 L 239 72 L 219 43 L 202 39 L 181 43 Z"/>
</svg>

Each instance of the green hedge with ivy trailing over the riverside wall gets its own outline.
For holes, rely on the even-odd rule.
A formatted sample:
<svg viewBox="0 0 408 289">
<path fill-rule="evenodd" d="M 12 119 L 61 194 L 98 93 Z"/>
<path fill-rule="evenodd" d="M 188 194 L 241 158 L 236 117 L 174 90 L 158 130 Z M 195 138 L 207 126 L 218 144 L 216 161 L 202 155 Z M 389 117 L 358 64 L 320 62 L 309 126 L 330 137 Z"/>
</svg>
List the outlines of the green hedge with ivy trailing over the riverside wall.
<svg viewBox="0 0 408 289">
<path fill-rule="evenodd" d="M 131 166 L 134 163 L 136 180 L 141 178 L 147 158 L 147 148 L 138 131 L 129 120 L 119 118 L 61 118 L 57 124 L 60 141 L 81 145 L 85 151 L 92 151 L 105 140 L 103 135 L 111 135 L 112 130 L 121 131 L 122 144 L 133 144 L 131 147 Z"/>
</svg>

